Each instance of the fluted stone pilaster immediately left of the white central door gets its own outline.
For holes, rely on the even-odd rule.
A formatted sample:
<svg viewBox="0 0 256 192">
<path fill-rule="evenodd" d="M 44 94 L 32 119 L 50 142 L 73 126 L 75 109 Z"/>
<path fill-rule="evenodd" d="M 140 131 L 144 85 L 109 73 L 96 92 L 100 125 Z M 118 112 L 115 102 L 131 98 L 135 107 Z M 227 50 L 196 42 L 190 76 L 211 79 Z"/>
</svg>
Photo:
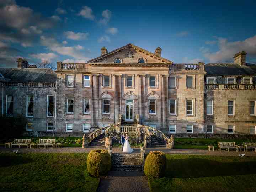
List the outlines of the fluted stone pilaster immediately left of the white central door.
<svg viewBox="0 0 256 192">
<path fill-rule="evenodd" d="M 121 79 L 122 74 L 115 74 L 114 85 L 114 124 L 119 122 L 119 114 L 121 114 Z"/>
</svg>

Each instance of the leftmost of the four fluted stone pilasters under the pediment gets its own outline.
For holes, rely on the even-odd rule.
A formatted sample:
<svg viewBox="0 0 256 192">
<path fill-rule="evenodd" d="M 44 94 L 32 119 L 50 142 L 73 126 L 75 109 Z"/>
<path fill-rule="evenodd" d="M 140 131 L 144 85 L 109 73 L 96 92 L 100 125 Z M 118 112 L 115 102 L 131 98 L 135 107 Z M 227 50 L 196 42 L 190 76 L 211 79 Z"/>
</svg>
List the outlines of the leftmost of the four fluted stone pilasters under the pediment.
<svg viewBox="0 0 256 192">
<path fill-rule="evenodd" d="M 99 74 L 92 74 L 92 123 L 91 128 L 98 128 L 98 96 L 99 96 Z"/>
</svg>

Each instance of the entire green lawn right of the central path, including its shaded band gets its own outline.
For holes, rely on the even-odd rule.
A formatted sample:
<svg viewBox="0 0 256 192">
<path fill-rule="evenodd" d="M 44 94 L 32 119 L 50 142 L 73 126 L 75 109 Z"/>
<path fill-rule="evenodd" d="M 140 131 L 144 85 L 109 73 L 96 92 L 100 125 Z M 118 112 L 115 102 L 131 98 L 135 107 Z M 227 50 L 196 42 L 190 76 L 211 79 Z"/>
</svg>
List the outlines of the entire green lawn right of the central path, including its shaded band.
<svg viewBox="0 0 256 192">
<path fill-rule="evenodd" d="M 165 177 L 149 178 L 153 192 L 256 191 L 256 157 L 166 154 Z"/>
</svg>

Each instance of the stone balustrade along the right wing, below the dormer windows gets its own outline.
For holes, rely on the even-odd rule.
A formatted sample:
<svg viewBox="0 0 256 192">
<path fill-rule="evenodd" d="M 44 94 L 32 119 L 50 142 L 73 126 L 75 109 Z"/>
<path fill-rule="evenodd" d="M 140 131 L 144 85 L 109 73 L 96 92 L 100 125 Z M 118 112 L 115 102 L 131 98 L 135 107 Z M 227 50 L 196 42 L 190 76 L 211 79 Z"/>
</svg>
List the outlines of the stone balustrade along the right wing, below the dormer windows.
<svg viewBox="0 0 256 192">
<path fill-rule="evenodd" d="M 256 84 L 206 84 L 206 89 L 256 90 Z"/>
</svg>

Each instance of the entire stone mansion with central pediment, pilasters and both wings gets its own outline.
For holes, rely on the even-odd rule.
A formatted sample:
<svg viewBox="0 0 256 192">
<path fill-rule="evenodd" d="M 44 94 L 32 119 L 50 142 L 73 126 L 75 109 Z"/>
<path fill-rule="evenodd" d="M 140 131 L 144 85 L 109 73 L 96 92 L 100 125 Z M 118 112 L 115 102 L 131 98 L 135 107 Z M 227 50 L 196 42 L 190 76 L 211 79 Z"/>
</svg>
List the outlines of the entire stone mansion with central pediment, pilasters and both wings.
<svg viewBox="0 0 256 192">
<path fill-rule="evenodd" d="M 87 63 L 0 68 L 2 114 L 27 118 L 32 135 L 82 135 L 122 121 L 167 134 L 256 134 L 256 65 L 173 63 L 127 44 Z"/>
</svg>

